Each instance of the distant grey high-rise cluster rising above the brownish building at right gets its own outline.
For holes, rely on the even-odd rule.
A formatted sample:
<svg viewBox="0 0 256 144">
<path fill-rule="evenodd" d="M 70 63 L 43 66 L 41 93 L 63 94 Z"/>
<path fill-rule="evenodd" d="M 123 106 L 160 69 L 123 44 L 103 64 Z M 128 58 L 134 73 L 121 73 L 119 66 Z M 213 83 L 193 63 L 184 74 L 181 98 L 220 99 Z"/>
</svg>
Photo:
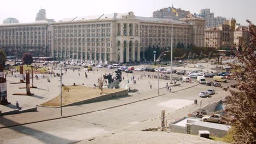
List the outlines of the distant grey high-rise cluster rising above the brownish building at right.
<svg viewBox="0 0 256 144">
<path fill-rule="evenodd" d="M 214 17 L 214 13 L 211 13 L 210 9 L 201 9 L 199 15 L 205 19 L 205 27 L 218 27 L 226 20 L 225 17 Z"/>
</svg>

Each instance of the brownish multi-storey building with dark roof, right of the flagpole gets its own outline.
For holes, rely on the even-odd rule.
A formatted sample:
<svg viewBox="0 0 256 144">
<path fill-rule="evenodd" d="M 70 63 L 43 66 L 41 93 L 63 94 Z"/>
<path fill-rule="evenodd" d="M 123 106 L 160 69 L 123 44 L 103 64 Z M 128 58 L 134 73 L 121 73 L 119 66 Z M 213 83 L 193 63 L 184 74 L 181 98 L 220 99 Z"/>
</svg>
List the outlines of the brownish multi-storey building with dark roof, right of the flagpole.
<svg viewBox="0 0 256 144">
<path fill-rule="evenodd" d="M 230 49 L 234 47 L 234 31 L 229 25 L 219 25 L 205 29 L 205 46 L 216 49 Z"/>
</svg>

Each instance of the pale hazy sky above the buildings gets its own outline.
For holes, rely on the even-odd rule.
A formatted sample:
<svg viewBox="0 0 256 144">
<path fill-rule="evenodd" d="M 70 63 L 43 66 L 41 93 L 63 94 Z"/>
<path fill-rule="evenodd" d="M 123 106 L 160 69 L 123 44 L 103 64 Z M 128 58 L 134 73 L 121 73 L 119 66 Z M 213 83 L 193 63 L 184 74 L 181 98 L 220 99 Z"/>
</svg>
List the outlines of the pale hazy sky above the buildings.
<svg viewBox="0 0 256 144">
<path fill-rule="evenodd" d="M 59 21 L 66 17 L 126 13 L 136 16 L 152 16 L 153 11 L 173 7 L 199 13 L 210 8 L 214 17 L 234 17 L 237 23 L 247 25 L 246 19 L 256 24 L 256 0 L 1 0 L 0 23 L 7 17 L 33 22 L 40 8 L 46 9 L 46 17 Z"/>
</svg>

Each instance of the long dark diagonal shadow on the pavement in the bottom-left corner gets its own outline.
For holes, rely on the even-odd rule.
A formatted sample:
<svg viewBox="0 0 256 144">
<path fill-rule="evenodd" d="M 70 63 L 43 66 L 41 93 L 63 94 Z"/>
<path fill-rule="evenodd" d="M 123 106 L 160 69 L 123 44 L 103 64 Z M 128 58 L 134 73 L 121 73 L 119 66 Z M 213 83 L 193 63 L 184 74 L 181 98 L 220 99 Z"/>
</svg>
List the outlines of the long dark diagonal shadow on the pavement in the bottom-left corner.
<svg viewBox="0 0 256 144">
<path fill-rule="evenodd" d="M 10 119 L 5 118 L 5 117 L 1 117 L 1 124 L 2 125 L 18 125 L 20 123 L 11 121 Z M 31 136 L 34 139 L 42 141 L 43 143 L 74 143 L 75 142 L 74 140 L 68 140 L 63 137 L 48 134 L 41 130 L 26 127 L 25 125 L 9 126 L 7 128 L 0 128 L 0 129 L 2 129 L 1 131 L 4 131 L 3 129 L 11 129 L 18 133 L 25 134 L 27 136 Z M 13 138 L 11 138 L 11 139 L 13 139 Z M 24 138 L 22 138 L 22 139 L 24 139 Z M 30 139 L 27 139 L 27 140 L 30 140 Z M 30 142 L 28 142 L 28 143 L 30 143 Z"/>
</svg>

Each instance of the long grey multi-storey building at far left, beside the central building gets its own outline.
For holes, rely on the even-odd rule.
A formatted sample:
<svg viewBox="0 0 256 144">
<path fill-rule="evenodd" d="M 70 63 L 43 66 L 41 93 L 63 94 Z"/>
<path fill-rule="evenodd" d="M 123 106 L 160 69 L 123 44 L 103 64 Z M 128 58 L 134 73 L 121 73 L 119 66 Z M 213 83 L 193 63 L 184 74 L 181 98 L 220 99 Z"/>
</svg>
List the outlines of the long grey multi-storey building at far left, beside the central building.
<svg viewBox="0 0 256 144">
<path fill-rule="evenodd" d="M 24 52 L 31 52 L 33 56 L 49 56 L 49 27 L 50 23 L 46 21 L 0 25 L 0 47 L 19 58 Z"/>
</svg>

